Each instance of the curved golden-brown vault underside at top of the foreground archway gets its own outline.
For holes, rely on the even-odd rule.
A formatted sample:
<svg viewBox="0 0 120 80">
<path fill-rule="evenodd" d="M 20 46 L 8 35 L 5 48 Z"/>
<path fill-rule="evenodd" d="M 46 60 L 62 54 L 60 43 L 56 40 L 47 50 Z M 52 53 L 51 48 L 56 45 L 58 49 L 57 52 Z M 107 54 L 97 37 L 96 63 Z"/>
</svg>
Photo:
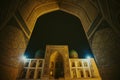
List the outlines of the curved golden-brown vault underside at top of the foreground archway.
<svg viewBox="0 0 120 80">
<path fill-rule="evenodd" d="M 85 6 L 84 4 L 88 5 Z M 89 0 L 35 0 L 27 1 L 19 8 L 19 12 L 31 33 L 40 16 L 56 10 L 61 10 L 78 17 L 86 33 L 98 15 L 98 9 Z"/>
</svg>

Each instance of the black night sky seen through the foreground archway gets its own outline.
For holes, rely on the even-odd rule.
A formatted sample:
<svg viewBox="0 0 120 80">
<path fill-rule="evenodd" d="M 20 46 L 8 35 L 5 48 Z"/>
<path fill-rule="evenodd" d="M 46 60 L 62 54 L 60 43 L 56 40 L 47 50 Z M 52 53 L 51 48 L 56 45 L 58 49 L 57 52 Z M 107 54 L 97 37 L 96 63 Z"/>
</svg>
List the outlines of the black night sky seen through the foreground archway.
<svg viewBox="0 0 120 80">
<path fill-rule="evenodd" d="M 68 13 L 54 11 L 38 18 L 25 55 L 33 57 L 37 50 L 45 51 L 46 45 L 68 45 L 79 57 L 91 50 L 80 20 Z"/>
</svg>

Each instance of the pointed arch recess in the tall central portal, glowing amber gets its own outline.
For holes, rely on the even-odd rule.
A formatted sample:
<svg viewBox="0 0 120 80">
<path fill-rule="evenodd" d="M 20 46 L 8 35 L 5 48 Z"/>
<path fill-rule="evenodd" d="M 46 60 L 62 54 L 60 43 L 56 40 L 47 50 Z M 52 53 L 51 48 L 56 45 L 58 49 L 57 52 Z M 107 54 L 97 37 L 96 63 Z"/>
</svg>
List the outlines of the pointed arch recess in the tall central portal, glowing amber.
<svg viewBox="0 0 120 80">
<path fill-rule="evenodd" d="M 64 78 L 64 60 L 63 60 L 63 56 L 58 51 L 54 51 L 50 55 L 49 64 L 50 64 L 49 65 L 49 77 L 51 79 Z"/>
</svg>

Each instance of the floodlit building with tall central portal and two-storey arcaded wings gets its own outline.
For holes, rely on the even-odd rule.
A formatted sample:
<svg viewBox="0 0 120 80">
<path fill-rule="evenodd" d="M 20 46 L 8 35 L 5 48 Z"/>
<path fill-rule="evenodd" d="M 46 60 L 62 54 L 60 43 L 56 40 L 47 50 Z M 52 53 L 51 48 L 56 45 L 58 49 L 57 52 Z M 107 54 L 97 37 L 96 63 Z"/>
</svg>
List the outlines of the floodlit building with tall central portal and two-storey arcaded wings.
<svg viewBox="0 0 120 80">
<path fill-rule="evenodd" d="M 29 58 L 22 65 L 19 80 L 101 80 L 94 59 L 78 58 L 76 51 L 69 55 L 67 45 L 47 45 L 44 59 Z"/>
</svg>

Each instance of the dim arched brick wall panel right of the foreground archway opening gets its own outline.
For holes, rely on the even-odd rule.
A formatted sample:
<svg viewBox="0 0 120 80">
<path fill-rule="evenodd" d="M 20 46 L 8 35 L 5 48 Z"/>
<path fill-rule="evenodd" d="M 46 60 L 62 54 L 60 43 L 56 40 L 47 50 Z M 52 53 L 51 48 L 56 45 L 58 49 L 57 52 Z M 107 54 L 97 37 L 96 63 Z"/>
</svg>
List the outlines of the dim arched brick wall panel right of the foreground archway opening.
<svg viewBox="0 0 120 80">
<path fill-rule="evenodd" d="M 120 37 L 112 28 L 101 29 L 93 37 L 92 50 L 103 80 L 117 80 L 120 77 L 119 44 Z"/>
</svg>

